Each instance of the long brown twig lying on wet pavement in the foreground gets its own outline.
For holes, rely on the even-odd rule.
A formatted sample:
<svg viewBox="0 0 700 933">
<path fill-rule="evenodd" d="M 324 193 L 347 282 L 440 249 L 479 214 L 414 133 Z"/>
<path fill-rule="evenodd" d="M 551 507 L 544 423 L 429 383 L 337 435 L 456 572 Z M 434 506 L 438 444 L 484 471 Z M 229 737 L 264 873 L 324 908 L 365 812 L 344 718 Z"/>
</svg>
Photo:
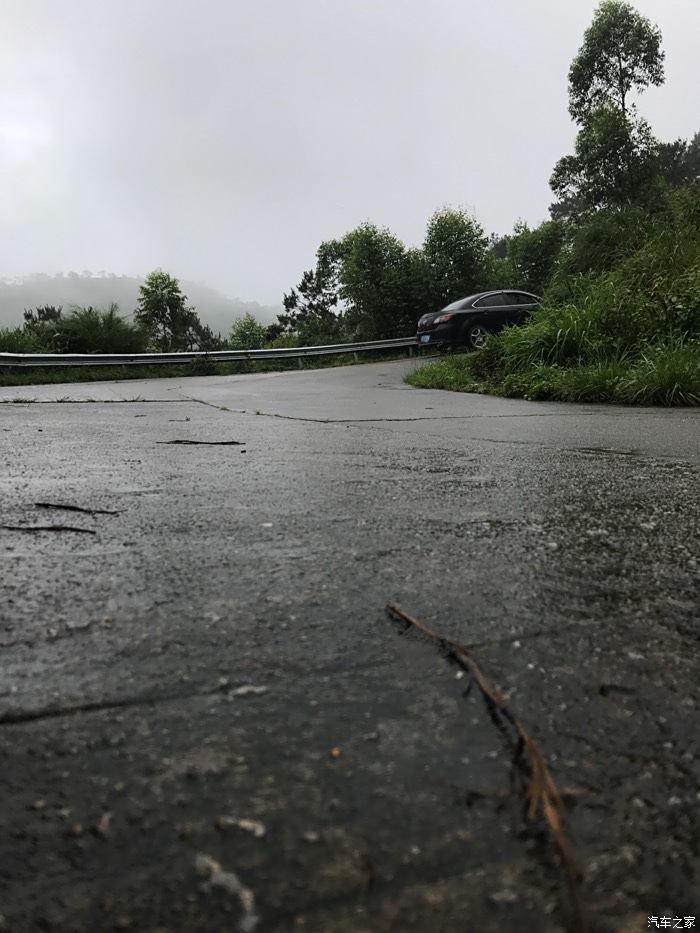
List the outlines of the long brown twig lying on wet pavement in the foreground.
<svg viewBox="0 0 700 933">
<path fill-rule="evenodd" d="M 413 616 L 404 612 L 401 606 L 396 603 L 387 603 L 386 608 L 393 619 L 404 622 L 406 628 L 414 628 L 421 635 L 430 639 L 445 652 L 448 658 L 451 658 L 462 670 L 469 674 L 481 691 L 494 722 L 504 729 L 506 728 L 505 723 L 508 723 L 515 732 L 513 768 L 519 772 L 521 777 L 527 780 L 525 796 L 528 819 L 534 819 L 537 816 L 538 809 L 541 811 L 564 868 L 574 909 L 576 930 L 579 933 L 586 933 L 588 924 L 580 897 L 580 872 L 571 847 L 564 836 L 563 817 L 565 808 L 562 795 L 554 783 L 554 779 L 549 773 L 544 757 L 534 739 L 520 720 L 516 718 L 505 699 L 487 680 L 476 660 L 464 645 L 433 632 L 432 629 L 423 625 L 418 619 L 414 619 Z"/>
</svg>

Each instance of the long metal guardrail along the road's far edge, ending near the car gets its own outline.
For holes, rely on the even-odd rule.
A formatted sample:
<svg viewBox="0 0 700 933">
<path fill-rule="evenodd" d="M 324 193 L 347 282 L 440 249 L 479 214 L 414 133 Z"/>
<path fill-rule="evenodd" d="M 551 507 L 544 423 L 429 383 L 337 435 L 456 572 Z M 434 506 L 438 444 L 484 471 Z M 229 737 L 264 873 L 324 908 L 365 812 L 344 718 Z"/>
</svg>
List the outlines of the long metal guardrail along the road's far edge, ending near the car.
<svg viewBox="0 0 700 933">
<path fill-rule="evenodd" d="M 274 350 L 193 350 L 190 353 L 0 353 L 2 366 L 137 366 L 162 363 L 190 363 L 206 359 L 218 363 L 241 360 L 298 359 L 309 356 L 332 356 L 336 353 L 359 353 L 367 350 L 393 350 L 417 346 L 415 337 L 395 340 L 368 340 L 365 343 L 334 343 L 323 347 L 279 347 Z"/>
</svg>

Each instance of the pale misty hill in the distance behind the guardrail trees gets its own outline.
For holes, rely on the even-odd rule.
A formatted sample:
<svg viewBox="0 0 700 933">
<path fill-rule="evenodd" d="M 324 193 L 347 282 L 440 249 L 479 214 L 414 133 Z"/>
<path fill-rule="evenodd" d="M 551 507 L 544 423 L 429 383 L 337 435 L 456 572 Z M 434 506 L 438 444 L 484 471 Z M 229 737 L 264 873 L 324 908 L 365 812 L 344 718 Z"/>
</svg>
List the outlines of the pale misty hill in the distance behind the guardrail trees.
<svg viewBox="0 0 700 933">
<path fill-rule="evenodd" d="M 0 279 L 0 327 L 17 327 L 24 320 L 22 312 L 25 308 L 40 305 L 62 305 L 67 311 L 71 305 L 107 308 L 115 302 L 122 314 L 131 315 L 142 284 L 143 279 L 128 275 L 79 275 L 76 272 L 67 275 L 37 273 L 17 279 Z M 180 284 L 188 303 L 195 307 L 202 322 L 215 333 L 227 334 L 235 318 L 246 313 L 263 324 L 269 324 L 282 312 L 281 304 L 277 308 L 257 301 L 227 298 L 202 282 L 183 281 Z"/>
</svg>

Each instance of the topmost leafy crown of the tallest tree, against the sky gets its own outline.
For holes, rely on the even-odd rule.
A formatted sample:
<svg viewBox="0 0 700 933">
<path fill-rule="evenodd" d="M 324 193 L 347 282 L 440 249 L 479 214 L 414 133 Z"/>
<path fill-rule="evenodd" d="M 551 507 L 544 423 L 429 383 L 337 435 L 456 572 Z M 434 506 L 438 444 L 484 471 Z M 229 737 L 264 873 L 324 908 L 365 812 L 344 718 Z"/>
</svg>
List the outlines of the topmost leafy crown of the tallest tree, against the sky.
<svg viewBox="0 0 700 933">
<path fill-rule="evenodd" d="M 629 3 L 604 0 L 569 69 L 569 113 L 585 123 L 591 111 L 614 106 L 630 115 L 629 94 L 664 81 L 661 32 Z"/>
</svg>

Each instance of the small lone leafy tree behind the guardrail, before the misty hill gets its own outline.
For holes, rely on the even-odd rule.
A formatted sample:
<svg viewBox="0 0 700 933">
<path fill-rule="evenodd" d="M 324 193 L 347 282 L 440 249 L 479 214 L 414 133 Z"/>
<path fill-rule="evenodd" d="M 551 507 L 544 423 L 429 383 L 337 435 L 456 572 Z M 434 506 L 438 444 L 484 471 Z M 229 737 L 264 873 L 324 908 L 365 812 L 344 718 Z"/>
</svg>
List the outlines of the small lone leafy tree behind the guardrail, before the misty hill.
<svg viewBox="0 0 700 933">
<path fill-rule="evenodd" d="M 167 272 L 156 269 L 149 273 L 139 292 L 134 319 L 159 350 L 211 350 L 220 346 L 220 339 L 202 324 L 195 309 L 187 306 L 187 295 L 182 294 L 179 281 Z"/>
</svg>

